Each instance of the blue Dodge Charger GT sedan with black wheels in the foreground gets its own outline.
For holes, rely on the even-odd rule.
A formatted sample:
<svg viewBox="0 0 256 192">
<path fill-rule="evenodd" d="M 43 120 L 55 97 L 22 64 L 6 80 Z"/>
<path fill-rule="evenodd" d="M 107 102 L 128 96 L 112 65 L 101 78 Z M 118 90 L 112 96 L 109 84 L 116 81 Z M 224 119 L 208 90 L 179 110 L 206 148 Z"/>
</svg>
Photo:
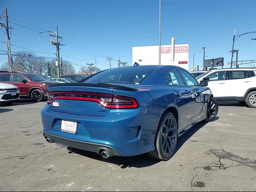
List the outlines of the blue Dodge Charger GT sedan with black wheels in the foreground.
<svg viewBox="0 0 256 192">
<path fill-rule="evenodd" d="M 216 117 L 218 103 L 206 85 L 178 66 L 154 65 L 105 70 L 72 86 L 52 84 L 41 111 L 43 135 L 104 158 L 148 152 L 168 160 L 178 136 Z"/>
</svg>

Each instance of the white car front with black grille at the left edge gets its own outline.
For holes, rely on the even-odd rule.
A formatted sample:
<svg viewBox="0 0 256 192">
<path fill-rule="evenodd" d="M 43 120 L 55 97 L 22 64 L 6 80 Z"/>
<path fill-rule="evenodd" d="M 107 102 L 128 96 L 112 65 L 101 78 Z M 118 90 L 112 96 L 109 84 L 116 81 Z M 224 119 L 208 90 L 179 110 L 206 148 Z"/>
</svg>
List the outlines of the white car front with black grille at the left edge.
<svg viewBox="0 0 256 192">
<path fill-rule="evenodd" d="M 10 104 L 20 99 L 18 87 L 6 83 L 0 83 L 0 102 Z"/>
</svg>

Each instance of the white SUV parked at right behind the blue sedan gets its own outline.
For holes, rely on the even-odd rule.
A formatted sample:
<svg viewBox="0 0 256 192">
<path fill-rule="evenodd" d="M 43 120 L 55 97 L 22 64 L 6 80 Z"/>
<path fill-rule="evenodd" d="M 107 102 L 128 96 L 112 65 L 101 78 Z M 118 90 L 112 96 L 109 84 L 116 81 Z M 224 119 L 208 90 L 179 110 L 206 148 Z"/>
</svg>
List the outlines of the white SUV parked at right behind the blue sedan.
<svg viewBox="0 0 256 192">
<path fill-rule="evenodd" d="M 208 87 L 216 100 L 236 100 L 256 108 L 256 68 L 216 69 L 196 80 L 208 80 L 204 78 L 209 78 Z"/>
</svg>

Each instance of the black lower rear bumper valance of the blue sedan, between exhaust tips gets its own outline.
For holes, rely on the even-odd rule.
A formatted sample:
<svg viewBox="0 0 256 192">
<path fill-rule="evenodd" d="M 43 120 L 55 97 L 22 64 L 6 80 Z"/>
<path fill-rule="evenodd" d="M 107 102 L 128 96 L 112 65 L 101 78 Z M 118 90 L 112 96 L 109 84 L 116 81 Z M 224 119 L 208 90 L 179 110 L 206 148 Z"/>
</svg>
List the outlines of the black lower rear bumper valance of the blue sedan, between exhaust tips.
<svg viewBox="0 0 256 192">
<path fill-rule="evenodd" d="M 108 145 L 78 141 L 78 140 L 73 140 L 73 139 L 68 139 L 60 136 L 47 134 L 47 133 L 43 133 L 43 135 L 44 135 L 44 138 L 50 139 L 52 143 L 59 143 L 69 147 L 91 151 L 98 154 L 100 154 L 100 152 L 102 151 L 107 151 L 110 154 L 110 156 L 122 156 L 122 154 L 118 153 L 118 151 L 115 148 L 112 148 L 111 146 L 108 146 Z"/>
</svg>

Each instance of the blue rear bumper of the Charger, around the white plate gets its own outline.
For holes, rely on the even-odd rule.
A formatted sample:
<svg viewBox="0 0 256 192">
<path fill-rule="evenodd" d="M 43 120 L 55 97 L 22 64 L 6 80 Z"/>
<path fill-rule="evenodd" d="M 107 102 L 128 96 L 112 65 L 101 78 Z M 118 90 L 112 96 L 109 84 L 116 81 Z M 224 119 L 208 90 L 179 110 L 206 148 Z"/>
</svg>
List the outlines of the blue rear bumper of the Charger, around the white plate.
<svg viewBox="0 0 256 192">
<path fill-rule="evenodd" d="M 160 110 L 140 107 L 110 110 L 106 116 L 54 112 L 47 104 L 41 111 L 44 137 L 73 148 L 111 156 L 134 156 L 154 150 Z M 62 120 L 78 122 L 77 134 L 62 132 Z"/>
</svg>

